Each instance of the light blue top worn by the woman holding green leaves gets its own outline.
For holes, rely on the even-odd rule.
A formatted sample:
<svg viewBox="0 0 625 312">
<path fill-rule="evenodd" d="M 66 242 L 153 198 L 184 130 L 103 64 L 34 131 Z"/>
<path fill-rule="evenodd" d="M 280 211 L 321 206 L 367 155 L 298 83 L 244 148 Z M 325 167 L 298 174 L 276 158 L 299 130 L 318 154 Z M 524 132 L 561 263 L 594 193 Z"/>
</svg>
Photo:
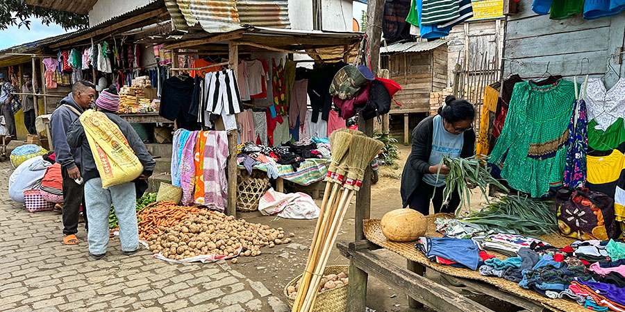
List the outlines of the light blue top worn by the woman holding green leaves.
<svg viewBox="0 0 625 312">
<path fill-rule="evenodd" d="M 458 158 L 465 142 L 465 136 L 460 133 L 453 135 L 445 130 L 443 119 L 440 115 L 434 117 L 434 132 L 432 134 L 432 150 L 430 151 L 430 166 L 440 164 L 443 157 Z M 423 182 L 434 187 L 442 187 L 445 184 L 445 175 L 437 173 L 426 173 L 423 175 Z"/>
</svg>

